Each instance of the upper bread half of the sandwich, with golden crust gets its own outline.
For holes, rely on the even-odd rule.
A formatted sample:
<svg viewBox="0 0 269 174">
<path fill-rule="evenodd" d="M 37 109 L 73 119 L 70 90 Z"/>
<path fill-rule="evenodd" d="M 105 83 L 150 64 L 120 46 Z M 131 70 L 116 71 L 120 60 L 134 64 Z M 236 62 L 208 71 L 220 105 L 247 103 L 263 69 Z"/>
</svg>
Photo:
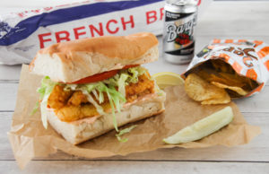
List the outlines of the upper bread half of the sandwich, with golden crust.
<svg viewBox="0 0 269 174">
<path fill-rule="evenodd" d="M 159 57 L 158 39 L 147 32 L 104 36 L 54 44 L 39 50 L 30 71 L 56 82 L 72 83 L 125 65 L 141 65 Z"/>
</svg>

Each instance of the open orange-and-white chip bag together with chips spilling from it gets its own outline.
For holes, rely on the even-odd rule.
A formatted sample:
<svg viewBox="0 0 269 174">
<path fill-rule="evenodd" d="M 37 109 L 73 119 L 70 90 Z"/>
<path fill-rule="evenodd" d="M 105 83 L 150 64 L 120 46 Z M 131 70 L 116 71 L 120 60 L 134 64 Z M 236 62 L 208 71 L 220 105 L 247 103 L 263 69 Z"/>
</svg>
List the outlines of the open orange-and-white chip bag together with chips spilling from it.
<svg viewBox="0 0 269 174">
<path fill-rule="evenodd" d="M 220 94 L 212 94 L 221 93 L 220 88 L 230 98 L 251 96 L 261 91 L 269 78 L 269 46 L 259 40 L 213 39 L 182 76 L 186 78 L 187 94 L 202 104 L 229 102 L 227 96 L 221 100 Z"/>
</svg>

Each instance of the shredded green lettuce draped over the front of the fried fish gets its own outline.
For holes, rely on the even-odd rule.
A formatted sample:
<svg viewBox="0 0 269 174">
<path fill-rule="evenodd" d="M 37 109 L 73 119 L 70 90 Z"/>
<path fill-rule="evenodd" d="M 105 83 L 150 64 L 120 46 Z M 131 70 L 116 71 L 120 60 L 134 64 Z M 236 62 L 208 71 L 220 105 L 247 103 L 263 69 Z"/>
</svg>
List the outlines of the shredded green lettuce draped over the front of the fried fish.
<svg viewBox="0 0 269 174">
<path fill-rule="evenodd" d="M 100 115 L 104 115 L 104 111 L 101 109 L 99 103 L 104 101 L 103 93 L 107 93 L 113 115 L 113 124 L 115 130 L 118 132 L 115 112 L 116 110 L 117 112 L 120 112 L 122 105 L 126 102 L 126 85 L 129 83 L 138 83 L 138 77 L 146 72 L 147 70 L 141 66 L 131 67 L 120 70 L 118 74 L 102 82 L 65 84 L 65 90 L 82 91 L 82 93 L 87 96 L 88 100 L 95 106 Z M 116 88 L 118 90 L 116 90 Z M 95 98 L 99 100 L 99 103 L 93 100 L 90 94 L 91 92 Z"/>
</svg>

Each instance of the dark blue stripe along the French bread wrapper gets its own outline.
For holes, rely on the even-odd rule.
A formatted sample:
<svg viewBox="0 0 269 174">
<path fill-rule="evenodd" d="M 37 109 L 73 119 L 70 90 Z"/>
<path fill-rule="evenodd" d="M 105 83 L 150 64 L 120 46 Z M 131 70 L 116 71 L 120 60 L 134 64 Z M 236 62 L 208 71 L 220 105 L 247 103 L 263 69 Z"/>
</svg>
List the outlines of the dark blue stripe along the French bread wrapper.
<svg viewBox="0 0 269 174">
<path fill-rule="evenodd" d="M 102 2 L 96 4 L 84 4 L 65 9 L 59 9 L 51 13 L 42 13 L 32 16 L 15 27 L 11 28 L 8 23 L 0 22 L 0 38 L 1 32 L 7 32 L 0 39 L 0 46 L 8 46 L 22 39 L 26 39 L 39 27 L 47 27 L 56 23 L 71 22 L 103 13 L 111 13 L 121 10 L 152 4 L 163 0 L 138 0 L 138 1 L 120 1 L 120 2 Z"/>
</svg>

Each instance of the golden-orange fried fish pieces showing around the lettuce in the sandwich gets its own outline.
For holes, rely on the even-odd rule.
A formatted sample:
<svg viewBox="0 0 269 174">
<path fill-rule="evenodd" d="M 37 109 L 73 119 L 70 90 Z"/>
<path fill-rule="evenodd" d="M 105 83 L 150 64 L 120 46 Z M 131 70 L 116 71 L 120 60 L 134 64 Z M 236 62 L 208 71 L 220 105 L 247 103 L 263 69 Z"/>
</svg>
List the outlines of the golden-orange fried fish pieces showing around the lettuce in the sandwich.
<svg viewBox="0 0 269 174">
<path fill-rule="evenodd" d="M 143 74 L 138 77 L 138 83 L 129 83 L 126 86 L 126 100 L 132 102 L 138 97 L 154 92 L 154 81 L 149 74 Z M 104 102 L 99 103 L 104 111 L 109 111 L 110 104 L 108 95 L 104 92 Z M 91 93 L 94 100 L 95 96 Z M 65 91 L 64 86 L 58 84 L 55 86 L 48 98 L 48 107 L 55 109 L 56 116 L 65 122 L 71 122 L 84 117 L 98 116 L 97 109 L 82 94 L 82 91 Z"/>
</svg>

